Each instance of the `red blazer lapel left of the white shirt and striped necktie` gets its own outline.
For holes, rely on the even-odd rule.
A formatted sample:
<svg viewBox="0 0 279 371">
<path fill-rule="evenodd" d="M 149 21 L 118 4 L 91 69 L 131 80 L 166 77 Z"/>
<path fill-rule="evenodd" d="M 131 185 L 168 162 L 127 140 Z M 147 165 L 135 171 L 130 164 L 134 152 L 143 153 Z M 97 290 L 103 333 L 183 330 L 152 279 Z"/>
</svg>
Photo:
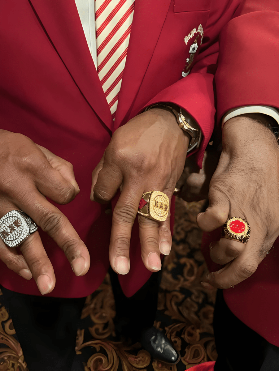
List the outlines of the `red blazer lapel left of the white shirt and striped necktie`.
<svg viewBox="0 0 279 371">
<path fill-rule="evenodd" d="M 29 0 L 82 95 L 111 130 L 113 121 L 74 0 Z"/>
</svg>

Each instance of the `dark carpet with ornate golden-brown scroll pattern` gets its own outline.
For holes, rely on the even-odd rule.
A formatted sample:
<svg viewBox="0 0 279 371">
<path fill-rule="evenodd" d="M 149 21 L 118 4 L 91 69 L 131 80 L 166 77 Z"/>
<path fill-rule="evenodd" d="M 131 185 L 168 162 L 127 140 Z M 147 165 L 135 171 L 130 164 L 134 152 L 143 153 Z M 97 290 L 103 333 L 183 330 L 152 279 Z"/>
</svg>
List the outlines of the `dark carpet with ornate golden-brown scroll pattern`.
<svg viewBox="0 0 279 371">
<path fill-rule="evenodd" d="M 114 299 L 107 276 L 100 288 L 87 297 L 82 311 L 76 352 L 85 371 L 184 371 L 216 360 L 212 326 L 216 293 L 200 285 L 207 267 L 199 250 L 201 231 L 195 218 L 203 204 L 203 201 L 176 200 L 172 250 L 165 257 L 162 270 L 155 326 L 165 331 L 179 351 L 178 364 L 167 365 L 150 359 L 140 343 L 128 346 L 115 341 Z M 12 320 L 1 305 L 1 296 L 0 323 L 0 371 L 27 371 Z"/>
</svg>

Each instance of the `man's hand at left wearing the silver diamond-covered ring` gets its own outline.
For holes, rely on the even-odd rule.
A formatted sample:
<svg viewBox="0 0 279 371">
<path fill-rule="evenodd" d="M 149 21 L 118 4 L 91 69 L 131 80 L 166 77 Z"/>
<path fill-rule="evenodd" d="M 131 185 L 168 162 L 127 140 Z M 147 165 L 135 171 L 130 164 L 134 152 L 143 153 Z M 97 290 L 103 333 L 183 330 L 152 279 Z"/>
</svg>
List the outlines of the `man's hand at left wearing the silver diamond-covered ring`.
<svg viewBox="0 0 279 371">
<path fill-rule="evenodd" d="M 86 246 L 64 214 L 46 200 L 67 204 L 79 193 L 72 165 L 22 134 L 0 130 L 0 174 L 0 217 L 24 211 L 65 252 L 75 275 L 84 275 L 90 265 Z M 0 259 L 23 278 L 33 276 L 42 294 L 51 292 L 55 275 L 39 232 L 19 248 L 22 255 L 0 239 Z"/>
</svg>

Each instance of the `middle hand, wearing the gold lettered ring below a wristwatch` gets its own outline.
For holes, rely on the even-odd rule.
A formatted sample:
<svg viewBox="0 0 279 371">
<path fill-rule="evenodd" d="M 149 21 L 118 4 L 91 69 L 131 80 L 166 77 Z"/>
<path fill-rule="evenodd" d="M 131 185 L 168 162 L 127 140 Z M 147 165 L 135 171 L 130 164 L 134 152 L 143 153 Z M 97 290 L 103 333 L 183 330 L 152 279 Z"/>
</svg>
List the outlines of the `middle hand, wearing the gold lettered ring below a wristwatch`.
<svg viewBox="0 0 279 371">
<path fill-rule="evenodd" d="M 131 230 L 142 194 L 164 192 L 169 201 L 185 163 L 189 135 L 179 128 L 175 116 L 163 109 L 144 112 L 113 134 L 103 159 L 92 174 L 91 199 L 108 202 L 121 189 L 113 212 L 110 264 L 115 272 L 130 269 Z M 138 216 L 144 265 L 152 272 L 161 269 L 160 252 L 171 250 L 169 220 L 158 223 Z"/>
</svg>

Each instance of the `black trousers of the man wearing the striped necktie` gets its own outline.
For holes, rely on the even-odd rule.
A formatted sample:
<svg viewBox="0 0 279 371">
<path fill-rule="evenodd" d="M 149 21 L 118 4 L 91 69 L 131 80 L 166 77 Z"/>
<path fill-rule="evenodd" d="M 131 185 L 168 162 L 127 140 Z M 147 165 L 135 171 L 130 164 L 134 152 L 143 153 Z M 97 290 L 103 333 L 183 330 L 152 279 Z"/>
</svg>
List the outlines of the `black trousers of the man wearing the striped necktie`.
<svg viewBox="0 0 279 371">
<path fill-rule="evenodd" d="M 116 332 L 140 341 L 141 331 L 153 325 L 160 272 L 153 273 L 131 298 L 126 298 L 110 270 L 116 302 Z M 86 298 L 51 298 L 16 293 L 3 288 L 3 300 L 12 318 L 29 371 L 79 371 L 73 366 L 75 340 Z M 132 326 L 133 324 L 133 326 Z M 135 326 L 136 324 L 136 326 Z"/>
</svg>

